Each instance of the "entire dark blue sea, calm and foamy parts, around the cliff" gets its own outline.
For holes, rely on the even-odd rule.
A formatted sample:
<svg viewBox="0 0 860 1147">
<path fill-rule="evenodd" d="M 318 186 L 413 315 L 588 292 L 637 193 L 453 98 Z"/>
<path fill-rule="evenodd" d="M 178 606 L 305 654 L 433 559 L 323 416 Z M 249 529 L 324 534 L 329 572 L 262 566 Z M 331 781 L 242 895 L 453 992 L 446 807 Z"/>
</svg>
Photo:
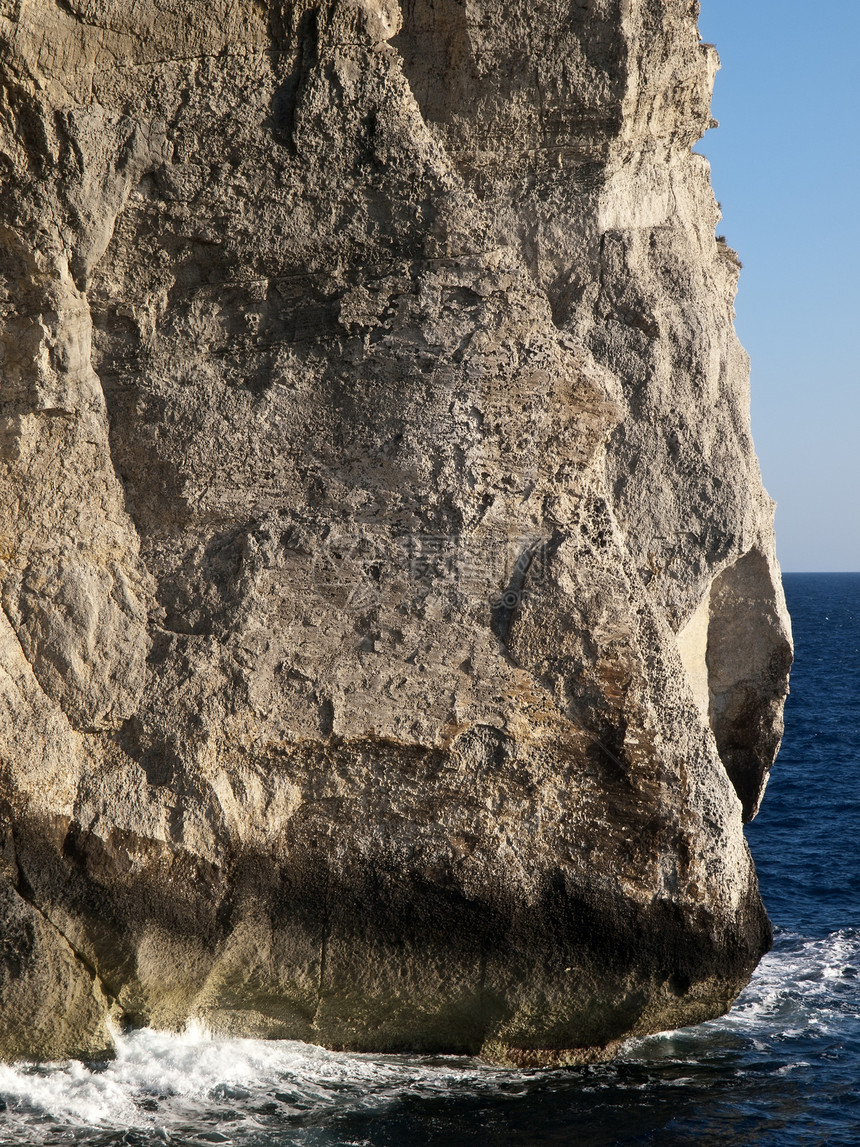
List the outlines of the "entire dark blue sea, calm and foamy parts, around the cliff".
<svg viewBox="0 0 860 1147">
<path fill-rule="evenodd" d="M 0 1144 L 860 1144 L 860 574 L 788 575 L 787 734 L 749 827 L 773 951 L 729 1015 L 611 1064 L 456 1058 L 141 1031 L 107 1067 L 0 1066 Z"/>
</svg>

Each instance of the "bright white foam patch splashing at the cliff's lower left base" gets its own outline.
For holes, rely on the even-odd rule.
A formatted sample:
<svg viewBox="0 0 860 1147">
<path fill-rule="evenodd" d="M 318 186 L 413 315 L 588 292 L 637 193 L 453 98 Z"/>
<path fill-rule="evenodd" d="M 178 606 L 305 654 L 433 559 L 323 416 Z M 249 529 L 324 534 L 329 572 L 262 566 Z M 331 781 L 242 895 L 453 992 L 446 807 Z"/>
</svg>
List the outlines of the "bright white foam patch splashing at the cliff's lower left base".
<svg viewBox="0 0 860 1147">
<path fill-rule="evenodd" d="M 68 1126 L 157 1132 L 165 1119 L 193 1118 L 198 1106 L 211 1114 L 219 1103 L 274 1098 L 284 1118 L 517 1082 L 516 1072 L 453 1056 L 352 1055 L 290 1040 L 217 1039 L 195 1027 L 178 1036 L 147 1029 L 119 1035 L 116 1059 L 103 1067 L 0 1064 L 0 1144 L 44 1142 L 45 1125 L 36 1121 L 45 1115 Z"/>
</svg>

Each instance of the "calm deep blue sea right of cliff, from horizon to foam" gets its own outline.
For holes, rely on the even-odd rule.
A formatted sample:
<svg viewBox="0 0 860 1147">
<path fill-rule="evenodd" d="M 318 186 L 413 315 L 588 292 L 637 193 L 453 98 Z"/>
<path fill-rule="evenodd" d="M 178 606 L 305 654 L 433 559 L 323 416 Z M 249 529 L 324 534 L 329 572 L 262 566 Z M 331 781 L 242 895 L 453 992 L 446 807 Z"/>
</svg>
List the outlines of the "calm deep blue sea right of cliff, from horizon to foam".
<svg viewBox="0 0 860 1147">
<path fill-rule="evenodd" d="M 787 574 L 795 631 L 785 738 L 748 829 L 774 923 L 860 926 L 860 574 Z"/>
</svg>

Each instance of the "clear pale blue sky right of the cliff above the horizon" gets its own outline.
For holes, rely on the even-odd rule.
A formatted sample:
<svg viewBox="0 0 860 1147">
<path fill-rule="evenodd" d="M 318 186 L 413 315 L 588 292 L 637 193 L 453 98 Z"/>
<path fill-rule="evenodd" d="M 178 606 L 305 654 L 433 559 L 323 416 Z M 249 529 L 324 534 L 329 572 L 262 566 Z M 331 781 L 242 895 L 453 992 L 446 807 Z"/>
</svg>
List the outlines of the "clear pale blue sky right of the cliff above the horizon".
<svg viewBox="0 0 860 1147">
<path fill-rule="evenodd" d="M 702 0 L 699 29 L 780 561 L 860 570 L 860 0 Z"/>
</svg>

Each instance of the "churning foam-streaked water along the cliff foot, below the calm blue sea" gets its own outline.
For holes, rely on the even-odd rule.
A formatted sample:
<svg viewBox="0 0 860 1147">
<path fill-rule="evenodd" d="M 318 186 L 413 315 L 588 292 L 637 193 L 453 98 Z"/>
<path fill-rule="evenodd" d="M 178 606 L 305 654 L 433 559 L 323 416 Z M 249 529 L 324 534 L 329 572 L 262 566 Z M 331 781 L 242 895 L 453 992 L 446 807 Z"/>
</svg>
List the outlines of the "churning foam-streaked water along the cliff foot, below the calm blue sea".
<svg viewBox="0 0 860 1147">
<path fill-rule="evenodd" d="M 727 1016 L 611 1064 L 522 1072 L 144 1030 L 104 1066 L 0 1066 L 0 1144 L 552 1144 L 579 1128 L 583 1145 L 847 1145 L 859 1056 L 860 930 L 780 933 Z M 799 1102 L 792 1077 L 816 1075 Z"/>
</svg>

